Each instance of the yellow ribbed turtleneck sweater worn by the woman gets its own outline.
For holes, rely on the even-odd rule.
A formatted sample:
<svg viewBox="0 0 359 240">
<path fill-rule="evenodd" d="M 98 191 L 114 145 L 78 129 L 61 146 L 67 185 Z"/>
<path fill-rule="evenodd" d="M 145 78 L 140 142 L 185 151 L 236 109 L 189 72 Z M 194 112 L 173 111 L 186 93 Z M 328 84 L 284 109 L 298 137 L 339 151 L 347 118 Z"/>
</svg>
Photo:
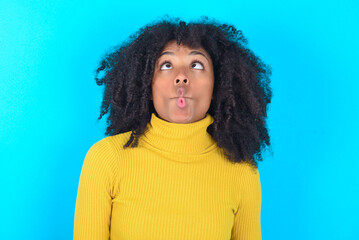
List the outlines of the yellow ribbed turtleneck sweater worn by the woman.
<svg viewBox="0 0 359 240">
<path fill-rule="evenodd" d="M 81 171 L 74 239 L 261 239 L 258 170 L 225 158 L 206 131 L 212 122 L 152 114 L 138 147 L 123 149 L 130 132 L 95 143 Z"/>
</svg>

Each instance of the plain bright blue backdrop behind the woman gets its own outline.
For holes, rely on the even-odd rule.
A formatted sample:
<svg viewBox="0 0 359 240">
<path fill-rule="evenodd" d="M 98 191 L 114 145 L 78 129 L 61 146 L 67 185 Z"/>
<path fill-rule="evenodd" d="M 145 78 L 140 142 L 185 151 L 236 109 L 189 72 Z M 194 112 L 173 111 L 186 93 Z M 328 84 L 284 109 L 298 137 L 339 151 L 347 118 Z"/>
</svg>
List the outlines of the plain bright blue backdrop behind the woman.
<svg viewBox="0 0 359 240">
<path fill-rule="evenodd" d="M 263 239 L 359 239 L 359 2 L 0 0 L 0 239 L 71 239 L 101 56 L 165 14 L 232 23 L 273 70 Z"/>
</svg>

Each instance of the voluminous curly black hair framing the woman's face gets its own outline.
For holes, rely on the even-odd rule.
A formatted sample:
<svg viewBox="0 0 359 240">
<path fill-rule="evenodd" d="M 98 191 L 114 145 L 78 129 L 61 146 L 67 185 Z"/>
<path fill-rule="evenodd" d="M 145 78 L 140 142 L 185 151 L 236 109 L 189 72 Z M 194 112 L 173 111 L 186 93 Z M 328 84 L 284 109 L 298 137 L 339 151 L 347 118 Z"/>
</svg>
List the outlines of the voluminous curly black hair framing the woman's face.
<svg viewBox="0 0 359 240">
<path fill-rule="evenodd" d="M 231 162 L 257 166 L 257 161 L 263 160 L 263 150 L 270 146 L 266 127 L 272 98 L 270 67 L 247 47 L 240 30 L 207 17 L 190 23 L 178 18 L 160 20 L 105 55 L 95 79 L 98 85 L 105 85 L 98 119 L 109 114 L 106 135 L 131 131 L 124 148 L 138 146 L 155 113 L 151 101 L 155 63 L 172 40 L 202 47 L 210 55 L 214 89 L 208 113 L 214 122 L 207 131 Z"/>
</svg>

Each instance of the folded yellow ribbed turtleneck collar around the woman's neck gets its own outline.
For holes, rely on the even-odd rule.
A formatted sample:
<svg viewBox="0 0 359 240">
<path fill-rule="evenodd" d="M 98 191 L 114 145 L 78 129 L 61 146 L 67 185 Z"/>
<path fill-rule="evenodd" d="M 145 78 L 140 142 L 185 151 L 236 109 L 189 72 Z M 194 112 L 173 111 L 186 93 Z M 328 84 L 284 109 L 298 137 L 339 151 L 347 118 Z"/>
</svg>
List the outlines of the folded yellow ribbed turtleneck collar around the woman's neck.
<svg viewBox="0 0 359 240">
<path fill-rule="evenodd" d="M 207 114 L 197 122 L 171 123 L 152 113 L 143 140 L 165 152 L 183 154 L 205 152 L 216 143 L 207 132 L 207 127 L 213 121 L 213 117 Z"/>
</svg>

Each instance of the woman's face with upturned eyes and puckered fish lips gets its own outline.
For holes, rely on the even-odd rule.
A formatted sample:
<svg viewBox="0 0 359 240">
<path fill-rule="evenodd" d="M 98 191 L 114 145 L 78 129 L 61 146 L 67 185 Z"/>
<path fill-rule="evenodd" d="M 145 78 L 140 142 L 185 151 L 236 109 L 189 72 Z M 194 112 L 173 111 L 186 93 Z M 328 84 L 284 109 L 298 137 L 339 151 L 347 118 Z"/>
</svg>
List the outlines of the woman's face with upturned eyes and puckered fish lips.
<svg viewBox="0 0 359 240">
<path fill-rule="evenodd" d="M 152 100 L 160 118 L 173 123 L 203 119 L 213 93 L 213 66 L 203 48 L 170 41 L 157 59 L 152 79 Z"/>
</svg>

